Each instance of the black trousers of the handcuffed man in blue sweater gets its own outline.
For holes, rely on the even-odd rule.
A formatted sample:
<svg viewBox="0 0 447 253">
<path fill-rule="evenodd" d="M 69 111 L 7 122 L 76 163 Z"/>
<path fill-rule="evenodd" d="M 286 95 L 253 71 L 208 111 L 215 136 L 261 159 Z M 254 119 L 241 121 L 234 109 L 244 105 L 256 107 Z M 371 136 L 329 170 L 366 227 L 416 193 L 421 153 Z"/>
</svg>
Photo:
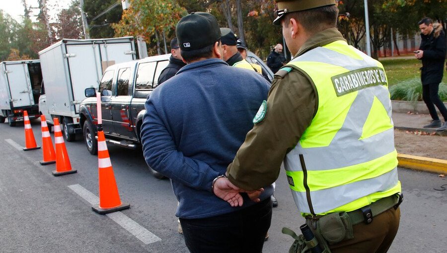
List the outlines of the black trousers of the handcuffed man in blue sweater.
<svg viewBox="0 0 447 253">
<path fill-rule="evenodd" d="M 182 219 L 185 243 L 191 253 L 261 253 L 272 219 L 270 198 L 239 211 Z"/>
</svg>

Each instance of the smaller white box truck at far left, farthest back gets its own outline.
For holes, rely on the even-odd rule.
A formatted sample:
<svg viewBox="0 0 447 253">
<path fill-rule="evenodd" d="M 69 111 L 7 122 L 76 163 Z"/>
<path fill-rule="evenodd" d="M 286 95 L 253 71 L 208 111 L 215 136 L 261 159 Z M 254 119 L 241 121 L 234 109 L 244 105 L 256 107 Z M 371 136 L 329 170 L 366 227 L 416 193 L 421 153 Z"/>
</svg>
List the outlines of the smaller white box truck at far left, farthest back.
<svg viewBox="0 0 447 253">
<path fill-rule="evenodd" d="M 39 117 L 38 100 L 42 72 L 39 60 L 0 63 L 0 123 L 9 126 L 23 121 L 23 111 L 30 119 Z"/>
</svg>

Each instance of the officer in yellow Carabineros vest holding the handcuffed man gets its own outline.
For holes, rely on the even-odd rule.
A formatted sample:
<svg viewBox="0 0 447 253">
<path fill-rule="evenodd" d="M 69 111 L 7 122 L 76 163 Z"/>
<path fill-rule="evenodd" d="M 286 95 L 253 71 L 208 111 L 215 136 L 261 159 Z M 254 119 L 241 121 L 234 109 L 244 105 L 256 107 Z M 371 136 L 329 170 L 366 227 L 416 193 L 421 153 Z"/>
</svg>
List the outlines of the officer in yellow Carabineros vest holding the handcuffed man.
<svg viewBox="0 0 447 253">
<path fill-rule="evenodd" d="M 217 183 L 260 189 L 277 179 L 284 160 L 298 210 L 322 249 L 386 252 L 402 195 L 383 66 L 343 39 L 335 0 L 276 2 L 274 24 L 295 58 L 276 73 L 228 178 Z M 219 196 L 240 200 L 237 190 Z"/>
</svg>

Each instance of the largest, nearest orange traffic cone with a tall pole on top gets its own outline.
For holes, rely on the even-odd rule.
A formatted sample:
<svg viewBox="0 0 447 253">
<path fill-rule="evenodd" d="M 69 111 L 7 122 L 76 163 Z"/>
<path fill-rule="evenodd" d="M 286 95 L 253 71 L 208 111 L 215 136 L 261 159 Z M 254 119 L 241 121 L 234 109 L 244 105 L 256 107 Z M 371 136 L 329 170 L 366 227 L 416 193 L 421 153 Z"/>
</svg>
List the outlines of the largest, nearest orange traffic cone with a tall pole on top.
<svg viewBox="0 0 447 253">
<path fill-rule="evenodd" d="M 106 214 L 129 208 L 130 204 L 120 200 L 103 131 L 98 131 L 98 173 L 99 205 L 92 206 L 91 209 Z"/>
</svg>

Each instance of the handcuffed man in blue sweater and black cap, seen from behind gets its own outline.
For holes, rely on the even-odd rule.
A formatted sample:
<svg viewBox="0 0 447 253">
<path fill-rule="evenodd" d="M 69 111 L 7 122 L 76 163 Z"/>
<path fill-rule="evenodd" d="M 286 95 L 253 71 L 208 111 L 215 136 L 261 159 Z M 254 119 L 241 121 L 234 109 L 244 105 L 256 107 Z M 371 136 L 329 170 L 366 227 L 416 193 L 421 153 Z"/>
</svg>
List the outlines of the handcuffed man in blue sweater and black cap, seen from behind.
<svg viewBox="0 0 447 253">
<path fill-rule="evenodd" d="M 176 35 L 188 64 L 146 101 L 144 157 L 171 180 L 190 252 L 261 253 L 272 217 L 271 184 L 243 193 L 238 207 L 236 199 L 225 201 L 215 189 L 270 85 L 254 71 L 222 61 L 222 34 L 210 13 L 184 16 Z M 219 189 L 225 187 L 234 186 Z"/>
</svg>

